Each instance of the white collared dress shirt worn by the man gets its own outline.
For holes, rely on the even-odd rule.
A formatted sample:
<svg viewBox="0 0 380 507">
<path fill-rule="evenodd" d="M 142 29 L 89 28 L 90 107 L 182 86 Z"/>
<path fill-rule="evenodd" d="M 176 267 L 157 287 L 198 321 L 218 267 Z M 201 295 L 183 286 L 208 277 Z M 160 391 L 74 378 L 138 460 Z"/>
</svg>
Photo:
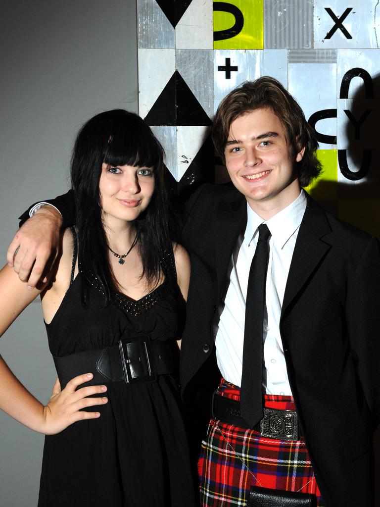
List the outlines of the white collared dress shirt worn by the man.
<svg viewBox="0 0 380 507">
<path fill-rule="evenodd" d="M 242 379 L 248 275 L 257 245 L 257 228 L 264 223 L 271 237 L 263 322 L 263 386 L 267 394 L 292 394 L 279 325 L 294 245 L 305 209 L 306 196 L 303 191 L 295 201 L 267 222 L 247 204 L 247 225 L 233 251 L 230 278 L 227 280 L 224 302 L 219 305 L 220 318 L 215 330 L 218 367 L 225 380 L 237 386 L 241 385 Z"/>
</svg>

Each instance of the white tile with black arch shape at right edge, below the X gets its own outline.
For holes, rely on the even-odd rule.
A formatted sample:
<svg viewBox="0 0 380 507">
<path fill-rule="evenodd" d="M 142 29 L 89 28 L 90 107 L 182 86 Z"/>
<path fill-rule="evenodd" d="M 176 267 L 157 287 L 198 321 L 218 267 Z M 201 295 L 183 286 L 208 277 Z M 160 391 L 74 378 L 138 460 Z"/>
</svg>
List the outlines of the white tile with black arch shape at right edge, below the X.
<svg viewBox="0 0 380 507">
<path fill-rule="evenodd" d="M 337 57 L 337 86 L 338 96 L 341 82 L 345 74 L 353 68 L 363 68 L 378 83 L 378 75 L 380 72 L 380 49 L 340 49 Z M 377 85 L 378 86 L 378 85 Z M 353 98 L 359 89 L 363 88 L 363 80 L 354 78 L 350 83 L 349 98 Z M 375 95 L 376 96 L 376 95 Z M 364 92 L 361 92 L 364 98 Z M 380 98 L 377 96 L 377 98 Z"/>
</svg>

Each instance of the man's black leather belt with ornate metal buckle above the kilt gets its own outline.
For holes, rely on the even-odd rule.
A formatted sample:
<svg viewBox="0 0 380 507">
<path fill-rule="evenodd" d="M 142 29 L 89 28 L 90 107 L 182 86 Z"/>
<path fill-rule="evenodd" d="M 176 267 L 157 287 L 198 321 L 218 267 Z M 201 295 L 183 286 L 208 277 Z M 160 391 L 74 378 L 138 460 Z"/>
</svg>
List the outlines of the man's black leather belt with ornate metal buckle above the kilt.
<svg viewBox="0 0 380 507">
<path fill-rule="evenodd" d="M 212 396 L 211 413 L 216 420 L 250 429 L 240 414 L 240 402 L 220 396 L 216 391 Z M 277 440 L 299 440 L 300 428 L 296 411 L 264 407 L 263 413 L 264 417 L 252 428 L 258 431 L 262 437 Z"/>
</svg>

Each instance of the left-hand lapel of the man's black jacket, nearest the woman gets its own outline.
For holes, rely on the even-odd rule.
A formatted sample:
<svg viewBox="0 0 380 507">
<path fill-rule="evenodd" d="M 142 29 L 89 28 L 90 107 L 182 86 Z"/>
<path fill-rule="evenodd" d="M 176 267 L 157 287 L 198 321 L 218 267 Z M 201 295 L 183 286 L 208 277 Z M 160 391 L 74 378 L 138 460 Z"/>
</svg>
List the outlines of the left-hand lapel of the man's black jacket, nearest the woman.
<svg viewBox="0 0 380 507">
<path fill-rule="evenodd" d="M 215 244 L 218 295 L 225 284 L 225 276 L 239 234 L 247 223 L 247 201 L 239 193 L 233 199 L 220 199 L 216 210 L 217 236 Z"/>
</svg>

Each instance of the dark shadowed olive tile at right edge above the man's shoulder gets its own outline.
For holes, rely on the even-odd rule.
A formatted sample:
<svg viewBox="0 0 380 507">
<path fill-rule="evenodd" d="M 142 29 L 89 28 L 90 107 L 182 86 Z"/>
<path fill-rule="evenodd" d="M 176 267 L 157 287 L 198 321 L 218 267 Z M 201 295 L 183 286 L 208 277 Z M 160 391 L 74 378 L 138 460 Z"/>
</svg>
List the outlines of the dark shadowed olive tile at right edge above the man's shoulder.
<svg viewBox="0 0 380 507">
<path fill-rule="evenodd" d="M 347 199 L 338 201 L 338 218 L 380 238 L 380 200 Z"/>
</svg>

